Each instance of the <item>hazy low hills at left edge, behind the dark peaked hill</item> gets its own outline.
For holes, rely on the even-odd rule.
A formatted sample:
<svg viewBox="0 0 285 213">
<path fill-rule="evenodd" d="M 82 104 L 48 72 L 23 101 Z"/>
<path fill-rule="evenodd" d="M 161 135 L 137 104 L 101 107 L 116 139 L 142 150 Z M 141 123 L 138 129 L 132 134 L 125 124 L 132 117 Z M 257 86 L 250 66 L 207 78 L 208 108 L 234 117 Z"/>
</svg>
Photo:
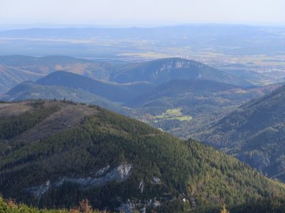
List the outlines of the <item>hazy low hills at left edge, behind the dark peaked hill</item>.
<svg viewBox="0 0 285 213">
<path fill-rule="evenodd" d="M 32 57 L 26 55 L 0 55 L 0 94 L 24 81 L 35 81 L 51 72 L 68 70 L 78 75 L 108 80 L 110 72 L 123 63 L 93 62 L 61 55 Z"/>
</svg>

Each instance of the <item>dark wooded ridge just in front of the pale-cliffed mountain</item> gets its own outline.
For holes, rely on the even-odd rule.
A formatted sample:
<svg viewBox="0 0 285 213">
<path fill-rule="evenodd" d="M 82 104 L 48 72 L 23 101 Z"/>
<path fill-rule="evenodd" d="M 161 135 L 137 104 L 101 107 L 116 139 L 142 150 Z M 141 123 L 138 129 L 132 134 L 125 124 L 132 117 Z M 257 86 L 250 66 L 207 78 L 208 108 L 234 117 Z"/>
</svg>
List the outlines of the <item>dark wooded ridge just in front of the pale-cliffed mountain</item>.
<svg viewBox="0 0 285 213">
<path fill-rule="evenodd" d="M 203 104 L 222 107 L 239 105 L 240 102 L 261 97 L 281 84 L 244 89 L 232 84 L 210 80 L 172 80 L 162 84 L 151 92 L 135 97 L 127 105 L 131 107 L 197 107 Z"/>
</svg>

